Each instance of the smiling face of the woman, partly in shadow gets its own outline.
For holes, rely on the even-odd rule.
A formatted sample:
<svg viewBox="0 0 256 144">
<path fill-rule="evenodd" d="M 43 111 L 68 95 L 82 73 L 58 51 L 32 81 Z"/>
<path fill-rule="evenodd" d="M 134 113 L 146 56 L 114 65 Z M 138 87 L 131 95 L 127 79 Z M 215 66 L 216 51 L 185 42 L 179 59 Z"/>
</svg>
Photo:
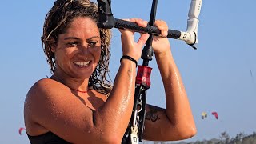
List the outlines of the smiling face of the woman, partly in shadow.
<svg viewBox="0 0 256 144">
<path fill-rule="evenodd" d="M 94 20 L 74 18 L 64 34 L 58 35 L 53 47 L 56 73 L 71 78 L 90 78 L 101 56 L 101 38 Z"/>
</svg>

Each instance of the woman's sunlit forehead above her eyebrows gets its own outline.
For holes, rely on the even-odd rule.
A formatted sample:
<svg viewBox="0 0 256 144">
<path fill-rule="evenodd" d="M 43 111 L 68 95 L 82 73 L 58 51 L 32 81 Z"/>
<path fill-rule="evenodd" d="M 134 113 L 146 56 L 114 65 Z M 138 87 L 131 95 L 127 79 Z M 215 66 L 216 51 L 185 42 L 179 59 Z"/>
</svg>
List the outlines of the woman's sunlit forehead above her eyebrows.
<svg viewBox="0 0 256 144">
<path fill-rule="evenodd" d="M 70 25 L 66 29 L 68 35 L 84 35 L 84 34 L 96 34 L 99 36 L 99 29 L 97 23 L 91 18 L 78 17 L 74 18 Z"/>
</svg>

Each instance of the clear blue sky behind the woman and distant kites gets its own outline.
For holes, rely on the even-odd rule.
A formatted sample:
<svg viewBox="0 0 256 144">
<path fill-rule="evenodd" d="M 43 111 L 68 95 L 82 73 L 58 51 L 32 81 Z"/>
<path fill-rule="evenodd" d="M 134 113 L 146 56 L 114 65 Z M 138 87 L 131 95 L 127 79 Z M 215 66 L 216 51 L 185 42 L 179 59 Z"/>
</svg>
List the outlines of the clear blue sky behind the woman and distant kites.
<svg viewBox="0 0 256 144">
<path fill-rule="evenodd" d="M 29 143 L 24 126 L 23 102 L 30 86 L 50 76 L 42 51 L 42 25 L 53 5 L 48 1 L 2 1 L 0 8 L 0 143 Z M 149 0 L 112 0 L 114 18 L 149 20 Z M 186 30 L 190 0 L 159 0 L 157 19 L 171 29 Z M 170 39 L 175 62 L 190 99 L 198 134 L 186 141 L 218 138 L 256 131 L 256 46 L 255 0 L 203 0 L 198 26 L 198 50 L 185 42 Z M 120 34 L 113 30 L 110 76 L 114 80 L 122 56 Z M 142 64 L 140 62 L 139 64 Z M 161 78 L 156 62 L 148 103 L 165 107 Z M 219 119 L 211 114 L 217 111 Z M 208 118 L 201 119 L 202 112 Z"/>
</svg>

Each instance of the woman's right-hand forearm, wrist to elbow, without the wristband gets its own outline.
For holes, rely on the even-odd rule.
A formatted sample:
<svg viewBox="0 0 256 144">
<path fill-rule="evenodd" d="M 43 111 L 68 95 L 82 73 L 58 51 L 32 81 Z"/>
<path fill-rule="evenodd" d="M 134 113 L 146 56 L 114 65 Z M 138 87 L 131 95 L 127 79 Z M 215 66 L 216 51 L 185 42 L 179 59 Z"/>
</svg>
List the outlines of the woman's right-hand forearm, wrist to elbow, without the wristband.
<svg viewBox="0 0 256 144">
<path fill-rule="evenodd" d="M 170 50 L 164 54 L 156 54 L 156 60 L 166 92 L 166 116 L 180 130 L 189 127 L 194 129 L 190 103 Z"/>
</svg>

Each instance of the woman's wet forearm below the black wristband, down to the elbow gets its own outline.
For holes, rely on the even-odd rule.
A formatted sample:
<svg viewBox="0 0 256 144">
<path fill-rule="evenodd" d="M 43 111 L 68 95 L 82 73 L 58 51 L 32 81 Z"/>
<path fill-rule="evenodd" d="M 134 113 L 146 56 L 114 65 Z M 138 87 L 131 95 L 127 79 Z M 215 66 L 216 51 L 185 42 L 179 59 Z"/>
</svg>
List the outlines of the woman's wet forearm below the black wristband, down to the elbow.
<svg viewBox="0 0 256 144">
<path fill-rule="evenodd" d="M 114 81 L 113 90 L 104 106 L 98 110 L 98 124 L 109 126 L 110 132 L 123 134 L 130 122 L 134 104 L 136 66 L 134 62 L 122 59 L 121 66 Z M 96 119 L 96 120 L 97 120 Z M 118 135 L 115 135 L 118 137 Z"/>
</svg>

